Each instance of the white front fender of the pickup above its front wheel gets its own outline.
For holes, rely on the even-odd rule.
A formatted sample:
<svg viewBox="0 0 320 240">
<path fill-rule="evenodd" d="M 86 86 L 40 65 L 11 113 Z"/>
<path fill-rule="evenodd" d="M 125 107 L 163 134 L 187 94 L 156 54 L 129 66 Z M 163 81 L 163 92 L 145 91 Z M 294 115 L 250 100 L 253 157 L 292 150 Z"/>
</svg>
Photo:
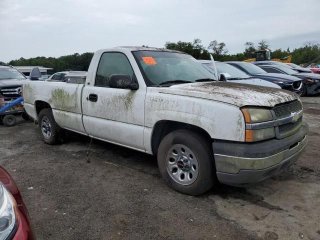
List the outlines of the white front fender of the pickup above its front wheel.
<svg viewBox="0 0 320 240">
<path fill-rule="evenodd" d="M 153 128 L 160 120 L 196 125 L 211 138 L 244 141 L 245 123 L 237 106 L 196 97 L 147 92 L 145 126 Z"/>
</svg>

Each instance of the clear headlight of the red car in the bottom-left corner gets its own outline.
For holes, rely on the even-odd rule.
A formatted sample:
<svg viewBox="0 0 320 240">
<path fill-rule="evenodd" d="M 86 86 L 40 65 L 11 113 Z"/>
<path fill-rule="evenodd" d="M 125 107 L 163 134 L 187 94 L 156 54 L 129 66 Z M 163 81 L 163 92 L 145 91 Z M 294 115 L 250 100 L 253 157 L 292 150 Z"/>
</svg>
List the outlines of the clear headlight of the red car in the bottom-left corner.
<svg viewBox="0 0 320 240">
<path fill-rule="evenodd" d="M 6 239 L 16 229 L 17 205 L 12 194 L 0 182 L 0 240 Z"/>
</svg>

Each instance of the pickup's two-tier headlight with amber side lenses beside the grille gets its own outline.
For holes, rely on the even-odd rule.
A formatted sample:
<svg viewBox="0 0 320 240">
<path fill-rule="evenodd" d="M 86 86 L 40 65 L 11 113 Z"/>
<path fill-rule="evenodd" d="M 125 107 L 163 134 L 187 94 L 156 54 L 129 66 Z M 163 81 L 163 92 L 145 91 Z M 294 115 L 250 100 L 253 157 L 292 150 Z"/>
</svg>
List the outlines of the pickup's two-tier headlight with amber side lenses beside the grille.
<svg viewBox="0 0 320 240">
<path fill-rule="evenodd" d="M 244 107 L 241 108 L 245 123 L 257 123 L 272 120 L 271 111 L 263 108 Z M 245 141 L 261 141 L 275 136 L 274 127 L 245 130 Z"/>
</svg>

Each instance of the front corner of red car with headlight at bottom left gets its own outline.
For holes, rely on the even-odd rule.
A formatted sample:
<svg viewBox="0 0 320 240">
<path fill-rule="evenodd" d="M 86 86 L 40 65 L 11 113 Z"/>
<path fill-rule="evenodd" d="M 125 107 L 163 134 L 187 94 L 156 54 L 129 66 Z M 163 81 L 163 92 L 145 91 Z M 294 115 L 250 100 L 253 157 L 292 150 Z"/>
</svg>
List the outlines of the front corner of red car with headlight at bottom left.
<svg viewBox="0 0 320 240">
<path fill-rule="evenodd" d="M 0 166 L 0 239 L 35 239 L 29 213 L 13 178 Z"/>
</svg>

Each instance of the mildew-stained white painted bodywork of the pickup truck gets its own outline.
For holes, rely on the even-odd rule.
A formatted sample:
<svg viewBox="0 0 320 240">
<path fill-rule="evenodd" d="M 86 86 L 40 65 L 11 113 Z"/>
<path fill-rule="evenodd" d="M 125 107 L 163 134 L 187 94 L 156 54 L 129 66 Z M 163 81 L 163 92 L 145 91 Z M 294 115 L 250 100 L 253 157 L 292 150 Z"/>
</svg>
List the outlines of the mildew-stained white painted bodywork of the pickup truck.
<svg viewBox="0 0 320 240">
<path fill-rule="evenodd" d="M 240 106 L 273 106 L 297 95 L 288 91 L 228 82 L 197 82 L 170 87 L 146 87 L 131 50 L 157 48 L 114 47 L 95 52 L 85 84 L 29 81 L 24 84 L 25 109 L 36 117 L 34 103 L 45 101 L 57 123 L 92 137 L 151 152 L 152 129 L 157 121 L 173 120 L 203 128 L 212 138 L 244 141 Z M 94 86 L 103 52 L 122 52 L 137 78 L 137 90 Z M 86 99 L 98 95 L 96 102 Z"/>
</svg>

